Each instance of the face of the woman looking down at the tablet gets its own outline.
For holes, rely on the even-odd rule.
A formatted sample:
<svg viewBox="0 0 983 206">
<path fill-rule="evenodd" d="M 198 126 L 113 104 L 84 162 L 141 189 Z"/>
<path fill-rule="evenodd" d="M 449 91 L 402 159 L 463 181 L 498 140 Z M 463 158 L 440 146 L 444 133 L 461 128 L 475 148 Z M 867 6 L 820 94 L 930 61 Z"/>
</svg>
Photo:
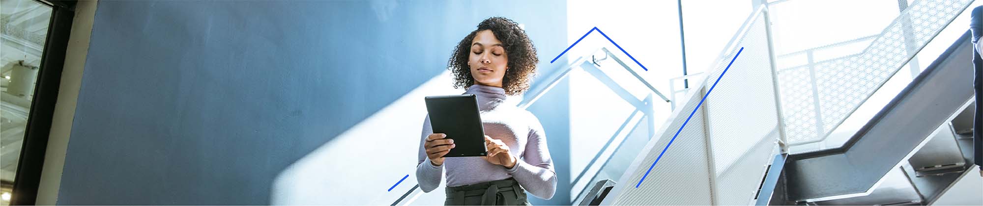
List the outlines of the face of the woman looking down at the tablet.
<svg viewBox="0 0 983 206">
<path fill-rule="evenodd" d="M 468 67 L 471 68 L 471 77 L 475 78 L 475 83 L 501 87 L 508 56 L 505 55 L 505 47 L 494 37 L 492 30 L 481 30 L 475 34 L 475 38 L 471 40 L 469 56 Z"/>
</svg>

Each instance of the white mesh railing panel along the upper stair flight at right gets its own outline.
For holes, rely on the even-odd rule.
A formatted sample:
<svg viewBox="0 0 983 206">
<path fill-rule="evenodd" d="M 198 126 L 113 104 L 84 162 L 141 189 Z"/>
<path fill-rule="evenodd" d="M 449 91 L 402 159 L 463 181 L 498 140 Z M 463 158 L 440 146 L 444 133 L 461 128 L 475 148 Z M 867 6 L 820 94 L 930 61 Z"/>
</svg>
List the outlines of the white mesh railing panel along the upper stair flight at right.
<svg viewBox="0 0 983 206">
<path fill-rule="evenodd" d="M 816 64 L 814 71 L 780 71 L 781 109 L 789 144 L 824 139 L 916 53 L 908 51 L 921 50 L 971 2 L 916 1 L 863 53 Z M 910 24 L 902 24 L 905 21 Z M 910 31 L 905 33 L 904 26 Z"/>
</svg>

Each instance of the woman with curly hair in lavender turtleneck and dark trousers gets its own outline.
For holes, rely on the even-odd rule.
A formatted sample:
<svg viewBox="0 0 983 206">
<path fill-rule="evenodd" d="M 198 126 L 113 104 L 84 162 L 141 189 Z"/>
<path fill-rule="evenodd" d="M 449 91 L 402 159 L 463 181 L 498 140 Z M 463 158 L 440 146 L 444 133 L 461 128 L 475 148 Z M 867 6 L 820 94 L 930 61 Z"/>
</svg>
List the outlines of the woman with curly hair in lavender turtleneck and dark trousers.
<svg viewBox="0 0 983 206">
<path fill-rule="evenodd" d="M 488 156 L 443 158 L 454 142 L 433 133 L 430 117 L 420 140 L 417 181 L 424 192 L 447 174 L 447 205 L 529 205 L 525 190 L 549 199 L 556 191 L 556 172 L 547 137 L 536 116 L 505 103 L 506 95 L 529 89 L 536 72 L 536 48 L 511 20 L 494 17 L 464 37 L 447 62 L 454 87 L 475 94 L 485 128 Z"/>
</svg>

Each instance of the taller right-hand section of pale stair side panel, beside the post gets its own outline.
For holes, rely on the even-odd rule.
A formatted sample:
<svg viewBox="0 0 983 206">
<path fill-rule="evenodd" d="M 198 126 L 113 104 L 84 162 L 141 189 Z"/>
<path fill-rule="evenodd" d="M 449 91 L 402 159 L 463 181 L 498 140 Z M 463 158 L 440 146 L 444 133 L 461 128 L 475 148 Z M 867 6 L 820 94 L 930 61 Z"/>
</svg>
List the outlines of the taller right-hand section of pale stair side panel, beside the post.
<svg viewBox="0 0 983 206">
<path fill-rule="evenodd" d="M 715 176 L 715 204 L 748 204 L 769 164 L 779 138 L 779 113 L 772 76 L 765 13 L 750 22 L 733 43 L 704 85 L 710 88 L 736 50 L 740 56 L 707 97 L 707 129 L 710 134 Z"/>
</svg>

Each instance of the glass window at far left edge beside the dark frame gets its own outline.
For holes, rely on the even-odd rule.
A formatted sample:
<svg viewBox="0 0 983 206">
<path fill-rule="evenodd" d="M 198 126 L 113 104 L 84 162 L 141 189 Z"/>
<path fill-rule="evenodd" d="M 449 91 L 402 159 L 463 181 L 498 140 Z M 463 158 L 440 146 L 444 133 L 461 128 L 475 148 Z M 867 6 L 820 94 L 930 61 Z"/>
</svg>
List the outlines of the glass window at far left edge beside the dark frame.
<svg viewBox="0 0 983 206">
<path fill-rule="evenodd" d="M 9 205 L 52 8 L 4 0 L 0 10 L 0 204 Z"/>
</svg>

